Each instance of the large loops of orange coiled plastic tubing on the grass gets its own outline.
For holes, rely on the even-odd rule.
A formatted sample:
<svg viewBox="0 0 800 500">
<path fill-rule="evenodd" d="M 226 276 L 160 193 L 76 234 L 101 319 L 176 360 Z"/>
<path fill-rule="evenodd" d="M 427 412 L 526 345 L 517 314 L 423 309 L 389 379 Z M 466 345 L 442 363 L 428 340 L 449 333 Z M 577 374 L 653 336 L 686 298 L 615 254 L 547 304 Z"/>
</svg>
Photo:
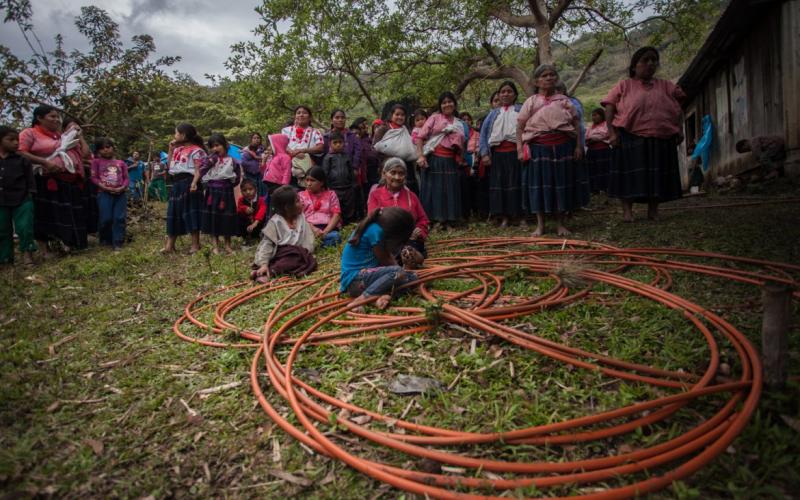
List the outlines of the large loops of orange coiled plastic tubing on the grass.
<svg viewBox="0 0 800 500">
<path fill-rule="evenodd" d="M 579 498 L 626 498 L 687 478 L 723 453 L 746 426 L 762 390 L 761 362 L 753 345 L 719 315 L 671 293 L 672 274 L 694 273 L 756 287 L 778 282 L 797 290 L 796 276 L 800 273 L 800 266 L 796 265 L 710 252 L 616 248 L 544 238 L 446 240 L 431 246 L 431 255 L 425 268 L 417 273 L 419 280 L 407 288 L 415 295 L 413 300 L 435 307 L 390 306 L 376 313 L 356 312 L 351 299 L 338 293 L 336 276 L 281 278 L 257 286 L 238 283 L 201 295 L 185 307 L 173 330 L 181 339 L 205 346 L 254 349 L 252 389 L 264 412 L 277 425 L 314 452 L 401 490 L 432 498 L 499 498 L 531 491 L 552 496 L 577 485 L 578 489 L 568 490 L 568 494 L 577 491 Z M 649 272 L 628 273 L 635 269 Z M 549 278 L 555 285 L 538 296 L 515 296 L 504 292 L 508 276 L 513 273 L 521 273 L 527 280 Z M 625 274 L 646 274 L 652 279 L 644 283 Z M 462 279 L 475 286 L 461 292 L 437 290 L 437 280 L 442 279 Z M 616 359 L 548 340 L 512 326 L 513 321 L 509 321 L 582 300 L 602 304 L 598 285 L 682 315 L 705 339 L 709 356 L 704 369 L 692 373 Z M 241 328 L 226 319 L 242 305 L 257 304 L 264 297 L 272 302 L 264 307 L 266 319 L 260 331 Z M 794 292 L 794 299 L 798 298 L 800 294 Z M 436 311 L 435 317 L 432 310 Z M 213 324 L 199 319 L 201 314 L 212 311 Z M 193 333 L 200 333 L 186 333 L 188 323 L 194 325 Z M 586 412 L 581 407 L 586 414 L 575 418 L 478 433 L 421 425 L 402 418 L 405 415 L 359 407 L 348 398 L 326 394 L 304 380 L 302 371 L 294 369 L 304 347 L 309 345 L 344 346 L 409 335 L 436 335 L 447 325 L 483 332 L 484 336 L 518 346 L 523 353 L 599 373 L 610 381 L 645 384 L 658 390 L 652 399 L 627 406 L 598 412 Z M 237 340 L 230 342 L 231 338 Z M 738 358 L 731 362 L 736 373 L 730 377 L 718 373 L 719 342 L 730 346 Z M 259 380 L 264 374 L 270 384 Z M 611 450 L 597 446 L 612 437 L 624 440 L 644 428 L 668 428 L 677 412 L 700 399 L 706 408 L 713 404 L 713 411 L 708 415 L 695 412 L 696 422 L 683 433 L 667 433 L 667 438 L 645 447 Z M 283 407 L 283 413 L 277 406 Z M 334 418 L 341 432 L 326 432 Z M 363 423 L 365 420 L 368 422 Z M 354 445 L 354 441 L 365 446 Z M 506 449 L 538 446 L 552 459 L 515 461 L 513 453 L 495 459 L 487 458 L 488 452 L 476 451 L 493 445 Z M 587 458 L 570 461 L 563 453 L 566 446 L 593 447 Z M 444 467 L 399 467 L 359 455 L 374 447 L 400 454 L 406 465 L 427 462 Z M 598 449 L 606 452 L 598 453 Z M 553 487 L 562 489 L 546 491 Z"/>
</svg>

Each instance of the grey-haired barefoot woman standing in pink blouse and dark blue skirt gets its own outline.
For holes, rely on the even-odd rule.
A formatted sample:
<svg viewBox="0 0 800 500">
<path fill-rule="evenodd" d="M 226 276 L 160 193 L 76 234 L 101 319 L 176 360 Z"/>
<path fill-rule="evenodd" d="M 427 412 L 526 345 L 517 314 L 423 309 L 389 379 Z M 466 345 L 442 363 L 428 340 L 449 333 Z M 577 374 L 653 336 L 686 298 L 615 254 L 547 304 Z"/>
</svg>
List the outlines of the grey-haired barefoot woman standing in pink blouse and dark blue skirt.
<svg viewBox="0 0 800 500">
<path fill-rule="evenodd" d="M 536 214 L 538 237 L 545 231 L 545 214 L 556 214 L 557 234 L 567 236 L 568 212 L 583 204 L 576 160 L 583 158 L 577 140 L 580 122 L 569 97 L 556 92 L 558 72 L 542 64 L 533 73 L 536 93 L 528 97 L 517 115 L 517 158 L 527 163 L 522 174 L 523 201 Z"/>
</svg>

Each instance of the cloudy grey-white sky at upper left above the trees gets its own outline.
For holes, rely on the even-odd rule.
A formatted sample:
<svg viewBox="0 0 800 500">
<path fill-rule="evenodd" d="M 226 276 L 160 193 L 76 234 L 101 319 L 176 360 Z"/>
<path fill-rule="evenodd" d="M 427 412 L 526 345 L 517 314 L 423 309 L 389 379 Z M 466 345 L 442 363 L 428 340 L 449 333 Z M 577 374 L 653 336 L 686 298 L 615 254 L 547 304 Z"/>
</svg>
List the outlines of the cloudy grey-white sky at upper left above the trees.
<svg viewBox="0 0 800 500">
<path fill-rule="evenodd" d="M 223 63 L 230 46 L 254 40 L 258 24 L 253 10 L 258 0 L 32 0 L 33 25 L 45 48 L 52 49 L 53 36 L 64 35 L 67 49 L 87 48 L 86 39 L 75 28 L 75 17 L 83 5 L 96 5 L 120 25 L 125 46 L 133 35 L 153 37 L 159 56 L 181 56 L 173 65 L 200 83 L 204 74 L 228 74 Z M 16 25 L 0 27 L 0 44 L 14 54 L 29 55 L 30 49 Z"/>
</svg>

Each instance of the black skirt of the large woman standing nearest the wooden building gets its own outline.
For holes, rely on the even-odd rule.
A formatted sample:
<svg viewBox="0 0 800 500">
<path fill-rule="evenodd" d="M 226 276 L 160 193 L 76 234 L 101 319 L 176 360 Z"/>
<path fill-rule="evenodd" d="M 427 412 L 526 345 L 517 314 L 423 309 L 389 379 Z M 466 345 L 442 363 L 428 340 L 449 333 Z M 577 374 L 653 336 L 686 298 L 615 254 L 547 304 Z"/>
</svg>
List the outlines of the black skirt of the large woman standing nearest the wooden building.
<svg viewBox="0 0 800 500">
<path fill-rule="evenodd" d="M 661 203 L 682 196 L 674 139 L 642 137 L 620 130 L 620 147 L 612 151 L 609 197 Z"/>
</svg>

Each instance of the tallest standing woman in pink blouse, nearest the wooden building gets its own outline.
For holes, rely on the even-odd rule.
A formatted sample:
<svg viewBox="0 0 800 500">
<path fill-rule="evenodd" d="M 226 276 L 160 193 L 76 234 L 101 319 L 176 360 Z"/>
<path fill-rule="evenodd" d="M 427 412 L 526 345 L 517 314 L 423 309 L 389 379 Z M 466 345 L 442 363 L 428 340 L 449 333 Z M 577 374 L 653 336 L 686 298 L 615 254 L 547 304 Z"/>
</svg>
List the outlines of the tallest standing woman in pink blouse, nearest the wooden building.
<svg viewBox="0 0 800 500">
<path fill-rule="evenodd" d="M 681 197 L 678 149 L 680 102 L 686 95 L 667 80 L 654 78 L 658 51 L 642 47 L 631 58 L 630 78 L 620 81 L 601 104 L 614 147 L 608 196 L 622 200 L 622 220 L 633 221 L 633 204 L 647 203 L 647 217 L 658 218 L 658 204 Z"/>
</svg>

